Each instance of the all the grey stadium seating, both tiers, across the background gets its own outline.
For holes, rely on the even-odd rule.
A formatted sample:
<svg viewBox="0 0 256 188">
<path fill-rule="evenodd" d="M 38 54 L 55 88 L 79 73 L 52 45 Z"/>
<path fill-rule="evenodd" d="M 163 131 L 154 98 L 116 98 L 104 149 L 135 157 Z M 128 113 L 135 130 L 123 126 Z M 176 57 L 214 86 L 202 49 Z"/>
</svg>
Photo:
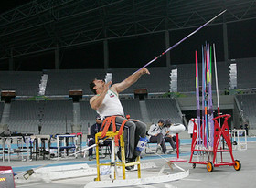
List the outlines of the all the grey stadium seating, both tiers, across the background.
<svg viewBox="0 0 256 188">
<path fill-rule="evenodd" d="M 219 89 L 229 89 L 229 64 L 237 63 L 238 69 L 238 89 L 255 89 L 256 78 L 251 75 L 256 74 L 254 66 L 256 58 L 236 59 L 228 63 L 218 62 Z M 175 99 L 165 99 L 163 93 L 168 92 L 170 83 L 170 71 L 173 68 L 178 69 L 178 91 L 195 92 L 195 65 L 173 65 L 171 68 L 148 68 L 150 76 L 144 76 L 139 79 L 133 87 L 125 90 L 121 97 L 123 109 L 133 119 L 144 120 L 142 117 L 140 101 L 133 99 L 133 89 L 148 89 L 149 99 L 145 99 L 148 121 L 157 122 L 160 118 L 170 118 L 173 122 L 181 122 Z M 52 100 L 47 101 L 12 101 L 9 118 L 9 127 L 11 131 L 38 132 L 39 114 L 41 114 L 42 134 L 70 132 L 70 125 L 73 120 L 72 101 L 67 96 L 70 89 L 82 89 L 83 95 L 91 95 L 89 83 L 93 78 L 105 78 L 106 72 L 112 73 L 113 83 L 123 81 L 129 75 L 133 74 L 138 68 L 118 68 L 108 69 L 78 69 L 78 70 L 44 70 L 48 74 L 48 83 L 46 96 Z M 199 66 L 199 71 L 201 67 Z M 42 72 L 16 72 L 0 71 L 0 89 L 14 89 L 16 95 L 21 97 L 37 96 L 38 86 Z M 215 90 L 215 78 L 212 75 L 212 89 Z M 201 77 L 199 76 L 200 80 Z M 250 81 L 249 81 L 250 80 Z M 158 94 L 158 97 L 152 97 L 152 94 Z M 247 92 L 249 93 L 249 92 Z M 253 93 L 253 92 L 251 92 Z M 30 97 L 29 97 L 30 96 Z M 57 96 L 57 100 L 53 97 Z M 62 100 L 58 96 L 63 96 Z M 132 96 L 132 97 L 131 97 Z M 155 95 L 156 96 L 156 95 Z M 96 111 L 91 110 L 88 99 L 90 96 L 80 101 L 80 118 L 83 131 L 87 131 L 88 126 L 95 122 Z M 256 99 L 255 95 L 238 95 L 240 106 L 244 115 L 248 117 L 250 126 L 256 129 L 256 120 L 254 117 Z M 0 117 L 3 114 L 4 103 L 0 103 Z M 42 111 L 42 112 L 40 112 Z M 68 130 L 66 130 L 66 125 Z"/>
</svg>

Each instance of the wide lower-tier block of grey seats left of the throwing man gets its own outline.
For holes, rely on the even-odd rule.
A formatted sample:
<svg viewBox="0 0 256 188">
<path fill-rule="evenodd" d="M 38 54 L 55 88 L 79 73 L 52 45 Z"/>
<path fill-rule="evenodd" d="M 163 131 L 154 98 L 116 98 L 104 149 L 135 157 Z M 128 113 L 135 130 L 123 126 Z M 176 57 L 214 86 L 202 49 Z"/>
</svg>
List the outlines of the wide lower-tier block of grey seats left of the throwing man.
<svg viewBox="0 0 256 188">
<path fill-rule="evenodd" d="M 42 114 L 42 115 L 39 115 Z M 9 129 L 17 132 L 38 133 L 39 119 L 42 119 L 42 134 L 65 133 L 66 123 L 70 128 L 72 101 L 15 101 L 11 104 Z M 68 130 L 70 131 L 70 129 Z"/>
</svg>

